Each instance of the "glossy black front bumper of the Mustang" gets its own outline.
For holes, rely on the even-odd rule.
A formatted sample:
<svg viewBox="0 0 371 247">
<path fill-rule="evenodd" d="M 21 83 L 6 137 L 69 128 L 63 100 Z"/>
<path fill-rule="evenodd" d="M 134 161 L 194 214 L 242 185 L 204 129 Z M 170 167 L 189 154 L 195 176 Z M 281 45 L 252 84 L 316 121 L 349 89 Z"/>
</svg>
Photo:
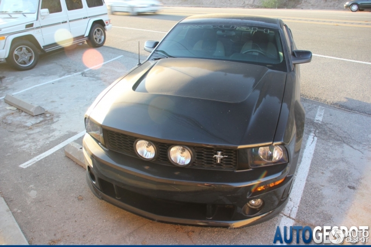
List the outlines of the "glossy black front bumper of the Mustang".
<svg viewBox="0 0 371 247">
<path fill-rule="evenodd" d="M 252 193 L 252 188 L 261 183 L 247 179 L 223 182 L 223 178 L 218 180 L 215 175 L 238 177 L 243 172 L 192 169 L 194 174 L 190 176 L 190 168 L 185 174 L 187 168 L 153 164 L 108 151 L 88 134 L 83 148 L 88 167 L 86 178 L 92 192 L 124 210 L 156 221 L 229 228 L 254 225 L 279 214 L 292 184 L 286 168 L 274 174 L 262 171 L 267 174 L 263 185 L 286 179 L 276 187 Z M 209 181 L 197 177 L 203 172 L 209 174 Z M 264 200 L 262 208 L 245 211 L 245 204 L 255 198 Z"/>
</svg>

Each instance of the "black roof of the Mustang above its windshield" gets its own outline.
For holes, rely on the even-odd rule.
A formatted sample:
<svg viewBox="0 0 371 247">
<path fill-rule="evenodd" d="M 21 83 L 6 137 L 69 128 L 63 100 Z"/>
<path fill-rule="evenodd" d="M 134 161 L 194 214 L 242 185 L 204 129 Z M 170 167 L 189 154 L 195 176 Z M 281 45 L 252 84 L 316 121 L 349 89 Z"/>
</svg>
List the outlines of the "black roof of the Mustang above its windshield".
<svg viewBox="0 0 371 247">
<path fill-rule="evenodd" d="M 263 27 L 280 27 L 280 19 L 262 16 L 250 16 L 247 14 L 199 14 L 189 16 L 179 23 L 220 23 L 220 24 L 249 24 Z"/>
</svg>

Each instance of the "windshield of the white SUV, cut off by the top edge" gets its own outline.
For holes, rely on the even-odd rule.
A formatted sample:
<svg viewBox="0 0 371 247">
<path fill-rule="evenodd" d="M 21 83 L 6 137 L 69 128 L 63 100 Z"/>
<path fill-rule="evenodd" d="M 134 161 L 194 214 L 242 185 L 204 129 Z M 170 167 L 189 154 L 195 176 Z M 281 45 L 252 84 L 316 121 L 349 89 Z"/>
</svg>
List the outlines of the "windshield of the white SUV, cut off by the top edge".
<svg viewBox="0 0 371 247">
<path fill-rule="evenodd" d="M 37 0 L 0 0 L 0 14 L 36 13 Z"/>
</svg>

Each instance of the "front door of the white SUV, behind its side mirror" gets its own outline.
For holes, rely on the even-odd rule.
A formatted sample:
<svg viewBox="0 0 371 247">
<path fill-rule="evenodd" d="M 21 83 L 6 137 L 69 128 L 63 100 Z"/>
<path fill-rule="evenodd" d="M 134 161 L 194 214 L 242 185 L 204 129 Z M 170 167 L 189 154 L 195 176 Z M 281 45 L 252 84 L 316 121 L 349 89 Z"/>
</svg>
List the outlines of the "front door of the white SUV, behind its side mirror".
<svg viewBox="0 0 371 247">
<path fill-rule="evenodd" d="M 40 15 L 40 26 L 45 45 L 58 45 L 70 38 L 65 6 L 61 0 L 42 0 L 40 9 L 48 9 L 47 16 Z"/>
</svg>

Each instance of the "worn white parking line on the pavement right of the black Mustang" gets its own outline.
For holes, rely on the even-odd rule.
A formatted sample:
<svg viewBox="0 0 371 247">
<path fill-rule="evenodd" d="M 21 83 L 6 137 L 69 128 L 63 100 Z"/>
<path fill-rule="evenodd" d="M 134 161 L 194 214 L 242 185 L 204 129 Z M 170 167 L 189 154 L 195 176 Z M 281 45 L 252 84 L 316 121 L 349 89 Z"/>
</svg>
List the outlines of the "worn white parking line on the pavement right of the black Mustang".
<svg viewBox="0 0 371 247">
<path fill-rule="evenodd" d="M 325 108 L 319 106 L 315 117 L 315 122 L 322 122 L 324 111 Z M 292 226 L 295 221 L 295 217 L 298 213 L 299 204 L 303 195 L 306 178 L 308 177 L 309 168 L 311 167 L 316 143 L 317 137 L 315 136 L 315 130 L 313 129 L 309 134 L 308 141 L 306 142 L 303 157 L 292 185 L 292 190 L 288 199 L 289 201 L 287 202 L 285 209 L 282 211 L 283 216 L 279 224 L 280 229 L 282 229 L 284 226 Z"/>
</svg>

